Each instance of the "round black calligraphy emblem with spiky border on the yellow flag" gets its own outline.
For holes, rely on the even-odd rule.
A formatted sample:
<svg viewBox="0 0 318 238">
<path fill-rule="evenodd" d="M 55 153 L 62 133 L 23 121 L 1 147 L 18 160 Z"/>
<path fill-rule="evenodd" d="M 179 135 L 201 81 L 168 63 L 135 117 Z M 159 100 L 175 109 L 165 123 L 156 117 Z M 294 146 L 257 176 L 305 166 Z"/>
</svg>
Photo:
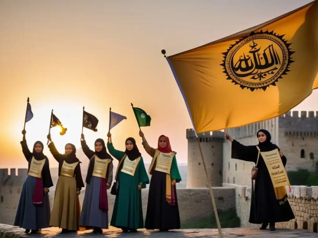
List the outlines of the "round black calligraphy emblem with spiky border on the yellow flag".
<svg viewBox="0 0 318 238">
<path fill-rule="evenodd" d="M 224 56 L 224 73 L 228 80 L 239 84 L 242 89 L 248 88 L 266 90 L 290 71 L 289 65 L 294 61 L 289 46 L 283 39 L 284 35 L 277 35 L 273 31 L 252 32 L 230 45 Z"/>
</svg>

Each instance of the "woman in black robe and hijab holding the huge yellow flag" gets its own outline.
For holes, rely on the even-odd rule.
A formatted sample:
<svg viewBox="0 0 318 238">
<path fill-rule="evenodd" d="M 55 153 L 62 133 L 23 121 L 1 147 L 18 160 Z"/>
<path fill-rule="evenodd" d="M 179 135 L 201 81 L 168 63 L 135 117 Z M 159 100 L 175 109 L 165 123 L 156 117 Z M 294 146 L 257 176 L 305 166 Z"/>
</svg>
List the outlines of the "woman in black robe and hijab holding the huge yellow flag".
<svg viewBox="0 0 318 238">
<path fill-rule="evenodd" d="M 287 159 L 277 145 L 271 142 L 271 134 L 264 129 L 257 132 L 260 152 L 278 149 L 281 161 L 285 167 Z M 255 189 L 252 186 L 250 223 L 262 224 L 259 229 L 265 230 L 269 223 L 271 231 L 275 230 L 275 222 L 290 221 L 295 218 L 292 208 L 287 200 L 285 186 L 273 187 L 266 163 L 256 146 L 245 146 L 233 140 L 225 132 L 225 138 L 232 142 L 232 158 L 257 163 L 257 177 Z M 257 157 L 259 154 L 259 159 Z"/>
</svg>

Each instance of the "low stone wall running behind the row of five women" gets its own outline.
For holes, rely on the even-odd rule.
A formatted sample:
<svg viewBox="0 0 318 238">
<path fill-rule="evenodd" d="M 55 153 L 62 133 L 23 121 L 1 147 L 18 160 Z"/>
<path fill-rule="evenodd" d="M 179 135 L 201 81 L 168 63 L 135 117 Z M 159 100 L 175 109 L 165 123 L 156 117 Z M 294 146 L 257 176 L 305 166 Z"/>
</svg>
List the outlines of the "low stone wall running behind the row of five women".
<svg viewBox="0 0 318 238">
<path fill-rule="evenodd" d="M 0 223 L 13 225 L 20 194 L 23 187 L 27 169 L 18 169 L 16 175 L 15 169 L 0 169 Z M 84 188 L 85 189 L 85 188 Z M 79 200 L 83 204 L 85 190 L 81 191 Z M 148 188 L 142 189 L 142 210 L 143 218 L 146 218 Z M 235 208 L 235 189 L 234 188 L 213 188 L 213 194 L 217 208 L 226 211 Z M 51 210 L 53 206 L 54 191 L 49 192 Z M 179 202 L 179 211 L 181 224 L 193 218 L 204 218 L 212 215 L 213 207 L 211 203 L 210 192 L 208 188 L 177 188 L 177 197 Z M 108 190 L 108 217 L 109 221 L 113 214 L 115 196 Z"/>
</svg>

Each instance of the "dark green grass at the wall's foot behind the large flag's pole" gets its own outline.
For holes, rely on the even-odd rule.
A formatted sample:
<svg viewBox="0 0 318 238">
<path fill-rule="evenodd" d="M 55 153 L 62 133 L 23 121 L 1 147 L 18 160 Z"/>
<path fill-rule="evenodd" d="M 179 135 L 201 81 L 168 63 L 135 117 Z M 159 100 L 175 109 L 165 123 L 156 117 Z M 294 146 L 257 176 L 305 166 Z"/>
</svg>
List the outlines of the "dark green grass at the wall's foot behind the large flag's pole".
<svg viewBox="0 0 318 238">
<path fill-rule="evenodd" d="M 227 211 L 218 211 L 218 217 L 220 220 L 221 228 L 236 228 L 241 226 L 241 221 L 236 215 L 235 208 L 231 208 Z M 181 229 L 204 229 L 204 228 L 218 228 L 218 224 L 213 212 L 212 216 L 193 217 L 187 222 L 181 224 Z"/>
</svg>

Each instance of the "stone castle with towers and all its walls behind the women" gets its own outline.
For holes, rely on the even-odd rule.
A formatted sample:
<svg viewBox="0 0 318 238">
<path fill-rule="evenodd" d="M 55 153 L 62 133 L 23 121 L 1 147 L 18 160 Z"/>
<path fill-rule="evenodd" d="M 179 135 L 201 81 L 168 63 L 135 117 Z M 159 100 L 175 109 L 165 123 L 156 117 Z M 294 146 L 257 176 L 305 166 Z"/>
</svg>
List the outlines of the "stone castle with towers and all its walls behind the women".
<svg viewBox="0 0 318 238">
<path fill-rule="evenodd" d="M 318 112 L 316 112 L 318 115 Z M 313 171 L 318 161 L 318 117 L 310 111 L 288 112 L 283 116 L 227 132 L 245 145 L 258 143 L 256 132 L 267 129 L 272 142 L 278 144 L 287 157 L 286 170 L 299 168 Z M 206 217 L 213 214 L 209 189 L 195 133 L 186 130 L 188 139 L 188 178 L 187 188 L 177 188 L 181 222 L 191 218 Z M 224 138 L 224 132 L 214 131 L 198 135 L 205 163 L 213 187 L 213 194 L 220 210 L 236 208 L 242 227 L 253 227 L 248 223 L 251 191 L 251 162 L 231 158 L 231 143 Z M 27 169 L 0 169 L 0 223 L 13 224 L 21 189 Z M 83 203 L 85 190 L 79 195 Z M 50 192 L 51 208 L 54 191 Z M 285 228 L 317 229 L 318 187 L 292 186 L 289 201 L 296 219 L 277 226 Z M 142 189 L 143 216 L 146 217 L 148 189 Z M 108 195 L 109 219 L 114 206 L 114 196 Z M 259 226 L 259 225 L 257 225 Z"/>
</svg>

